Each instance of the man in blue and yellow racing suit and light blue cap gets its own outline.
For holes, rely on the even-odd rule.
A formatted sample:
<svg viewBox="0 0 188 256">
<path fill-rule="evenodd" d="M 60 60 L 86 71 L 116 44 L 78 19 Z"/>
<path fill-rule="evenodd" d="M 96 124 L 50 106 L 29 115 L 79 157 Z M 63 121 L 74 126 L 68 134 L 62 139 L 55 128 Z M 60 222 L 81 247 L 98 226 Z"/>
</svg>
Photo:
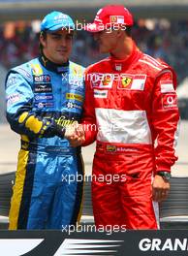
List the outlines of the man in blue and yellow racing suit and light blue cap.
<svg viewBox="0 0 188 256">
<path fill-rule="evenodd" d="M 7 76 L 7 119 L 21 136 L 12 230 L 62 229 L 76 225 L 80 215 L 80 148 L 65 139 L 84 100 L 84 68 L 69 60 L 74 28 L 70 16 L 48 14 L 41 23 L 41 55 Z"/>
</svg>

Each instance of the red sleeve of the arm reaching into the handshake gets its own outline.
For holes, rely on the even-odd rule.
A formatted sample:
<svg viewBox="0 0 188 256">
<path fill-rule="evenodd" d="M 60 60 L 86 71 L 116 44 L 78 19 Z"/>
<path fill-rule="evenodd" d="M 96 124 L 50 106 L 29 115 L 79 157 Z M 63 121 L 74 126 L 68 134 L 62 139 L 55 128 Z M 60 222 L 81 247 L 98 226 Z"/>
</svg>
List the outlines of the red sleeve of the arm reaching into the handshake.
<svg viewBox="0 0 188 256">
<path fill-rule="evenodd" d="M 83 104 L 83 113 L 81 124 L 85 132 L 85 142 L 83 146 L 92 144 L 97 136 L 97 123 L 94 107 L 93 87 L 89 73 L 85 72 L 85 100 Z"/>
</svg>

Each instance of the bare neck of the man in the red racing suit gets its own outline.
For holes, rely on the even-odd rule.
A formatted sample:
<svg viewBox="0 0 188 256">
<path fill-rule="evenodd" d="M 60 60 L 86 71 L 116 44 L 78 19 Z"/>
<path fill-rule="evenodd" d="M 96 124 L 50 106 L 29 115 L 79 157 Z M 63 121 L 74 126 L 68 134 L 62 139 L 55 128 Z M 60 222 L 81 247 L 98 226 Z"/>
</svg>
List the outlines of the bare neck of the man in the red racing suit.
<svg viewBox="0 0 188 256">
<path fill-rule="evenodd" d="M 126 59 L 133 51 L 134 43 L 132 38 L 126 37 L 123 42 L 118 42 L 118 47 L 110 52 L 110 55 L 116 59 Z"/>
</svg>

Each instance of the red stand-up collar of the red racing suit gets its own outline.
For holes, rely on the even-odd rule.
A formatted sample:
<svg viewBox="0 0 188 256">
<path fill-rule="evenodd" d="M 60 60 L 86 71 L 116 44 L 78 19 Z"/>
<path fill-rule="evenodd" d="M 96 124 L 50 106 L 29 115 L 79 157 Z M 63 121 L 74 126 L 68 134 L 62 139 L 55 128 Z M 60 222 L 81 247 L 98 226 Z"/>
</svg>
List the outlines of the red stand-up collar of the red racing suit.
<svg viewBox="0 0 188 256">
<path fill-rule="evenodd" d="M 125 59 L 116 59 L 113 56 L 110 56 L 111 66 L 113 70 L 121 72 L 126 70 L 130 65 L 133 65 L 133 62 L 141 56 L 141 50 L 133 42 L 133 49 L 131 54 Z"/>
</svg>

